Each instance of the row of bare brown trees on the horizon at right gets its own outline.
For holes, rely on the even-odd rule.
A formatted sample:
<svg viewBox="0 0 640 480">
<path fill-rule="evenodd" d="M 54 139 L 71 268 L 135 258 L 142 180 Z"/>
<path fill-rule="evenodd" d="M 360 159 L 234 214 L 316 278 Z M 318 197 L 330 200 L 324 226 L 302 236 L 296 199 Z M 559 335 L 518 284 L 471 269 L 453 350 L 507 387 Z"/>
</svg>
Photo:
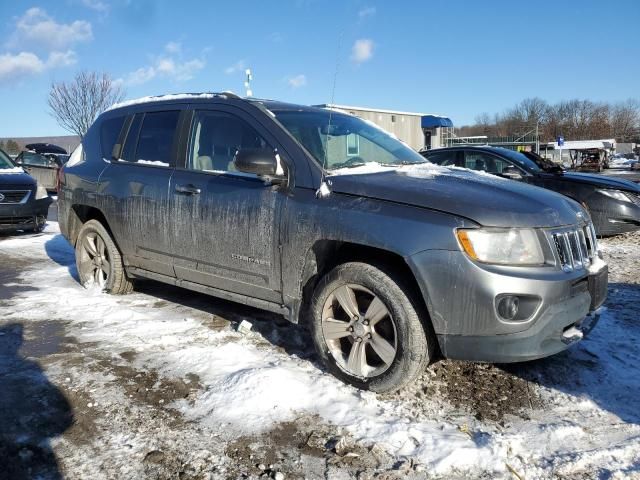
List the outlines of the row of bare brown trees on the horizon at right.
<svg viewBox="0 0 640 480">
<path fill-rule="evenodd" d="M 527 98 L 502 113 L 478 115 L 473 125 L 456 129 L 460 137 L 522 136 L 535 133 L 540 141 L 615 138 L 618 142 L 640 143 L 640 101 L 607 103 L 591 100 L 566 100 L 549 104 L 541 98 Z"/>
</svg>

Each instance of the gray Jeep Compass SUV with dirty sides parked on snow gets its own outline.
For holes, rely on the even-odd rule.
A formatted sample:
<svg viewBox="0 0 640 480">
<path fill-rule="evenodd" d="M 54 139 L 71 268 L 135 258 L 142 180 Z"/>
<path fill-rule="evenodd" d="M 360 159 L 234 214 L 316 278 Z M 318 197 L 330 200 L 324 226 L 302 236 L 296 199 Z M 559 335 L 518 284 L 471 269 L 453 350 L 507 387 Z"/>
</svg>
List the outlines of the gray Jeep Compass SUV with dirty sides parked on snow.
<svg viewBox="0 0 640 480">
<path fill-rule="evenodd" d="M 149 278 L 309 325 L 359 388 L 434 358 L 559 352 L 607 291 L 573 200 L 423 157 L 338 111 L 185 94 L 102 114 L 60 175 L 80 280 Z"/>
</svg>

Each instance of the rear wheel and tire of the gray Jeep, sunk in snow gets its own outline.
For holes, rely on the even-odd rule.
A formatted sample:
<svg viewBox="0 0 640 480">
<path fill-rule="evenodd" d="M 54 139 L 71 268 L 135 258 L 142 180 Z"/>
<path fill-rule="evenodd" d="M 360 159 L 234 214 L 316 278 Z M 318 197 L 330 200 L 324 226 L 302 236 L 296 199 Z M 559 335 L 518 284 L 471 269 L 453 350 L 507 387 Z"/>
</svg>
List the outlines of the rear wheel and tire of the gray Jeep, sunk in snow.
<svg viewBox="0 0 640 480">
<path fill-rule="evenodd" d="M 80 283 L 87 288 L 98 286 L 114 295 L 124 295 L 133 290 L 118 247 L 97 220 L 89 220 L 80 229 L 76 241 L 76 267 Z"/>
</svg>

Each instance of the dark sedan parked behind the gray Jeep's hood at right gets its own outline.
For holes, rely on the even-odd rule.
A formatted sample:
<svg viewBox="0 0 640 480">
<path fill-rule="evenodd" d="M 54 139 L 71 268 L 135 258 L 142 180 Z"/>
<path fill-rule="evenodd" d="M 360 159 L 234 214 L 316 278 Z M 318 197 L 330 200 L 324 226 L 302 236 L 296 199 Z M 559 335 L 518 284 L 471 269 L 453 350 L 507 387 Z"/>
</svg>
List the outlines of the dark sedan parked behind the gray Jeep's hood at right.
<svg viewBox="0 0 640 480">
<path fill-rule="evenodd" d="M 562 193 L 589 211 L 598 235 L 640 228 L 640 186 L 604 175 L 567 172 L 531 153 L 499 147 L 451 147 L 423 152 L 438 165 L 470 168 Z"/>
</svg>

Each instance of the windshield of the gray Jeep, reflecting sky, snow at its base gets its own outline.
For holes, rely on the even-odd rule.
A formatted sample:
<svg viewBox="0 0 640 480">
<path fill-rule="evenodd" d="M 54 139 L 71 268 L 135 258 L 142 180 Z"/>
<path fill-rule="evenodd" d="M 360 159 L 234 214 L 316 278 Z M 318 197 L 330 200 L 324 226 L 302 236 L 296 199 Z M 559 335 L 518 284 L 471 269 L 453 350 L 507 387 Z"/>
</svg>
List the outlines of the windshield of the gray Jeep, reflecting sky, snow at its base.
<svg viewBox="0 0 640 480">
<path fill-rule="evenodd" d="M 327 170 L 370 162 L 406 165 L 426 161 L 384 130 L 357 117 L 329 111 L 275 111 L 274 114 Z"/>
</svg>

